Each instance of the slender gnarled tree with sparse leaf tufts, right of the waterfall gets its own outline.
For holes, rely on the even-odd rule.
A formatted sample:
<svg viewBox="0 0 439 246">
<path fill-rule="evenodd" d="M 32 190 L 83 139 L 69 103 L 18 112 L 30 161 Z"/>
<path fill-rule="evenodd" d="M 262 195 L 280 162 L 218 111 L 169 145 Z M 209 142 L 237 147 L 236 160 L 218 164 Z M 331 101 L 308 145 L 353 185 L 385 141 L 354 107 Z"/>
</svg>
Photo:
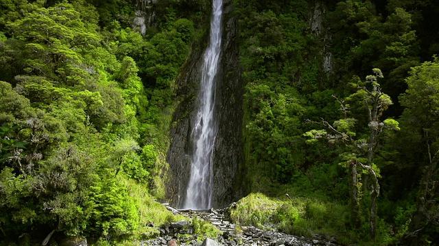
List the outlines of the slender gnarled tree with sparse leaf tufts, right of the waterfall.
<svg viewBox="0 0 439 246">
<path fill-rule="evenodd" d="M 311 130 L 305 133 L 306 137 L 309 137 L 308 141 L 316 141 L 317 139 L 324 138 L 330 143 L 344 143 L 347 151 L 342 154 L 342 158 L 346 160 L 348 169 L 351 176 L 351 205 L 353 206 L 353 212 L 355 217 L 359 219 L 359 189 L 361 185 L 364 186 L 364 190 L 369 190 L 370 180 L 370 233 L 372 238 L 375 239 L 377 229 L 377 197 L 379 195 L 379 169 L 374 163 L 374 156 L 377 151 L 380 137 L 385 131 L 399 130 L 399 123 L 396 120 L 386 119 L 381 121 L 381 116 L 385 109 L 388 109 L 392 105 L 390 97 L 381 92 L 381 87 L 377 82 L 378 78 L 383 78 L 381 70 L 374 68 L 374 75 L 368 75 L 366 77 L 366 83 L 370 85 L 366 87 L 361 82 L 354 84 L 357 92 L 348 96 L 346 100 L 357 101 L 364 104 L 368 115 L 368 136 L 357 136 L 354 126 L 357 121 L 354 118 L 348 118 L 349 105 L 345 104 L 344 100 L 339 100 L 341 111 L 344 113 L 344 118 L 336 120 L 333 124 L 330 124 L 326 120 L 321 122 L 313 122 L 308 120 L 308 123 L 322 124 L 326 129 L 324 130 Z M 363 183 L 359 181 L 361 174 L 359 172 L 364 170 L 366 178 Z"/>
</svg>

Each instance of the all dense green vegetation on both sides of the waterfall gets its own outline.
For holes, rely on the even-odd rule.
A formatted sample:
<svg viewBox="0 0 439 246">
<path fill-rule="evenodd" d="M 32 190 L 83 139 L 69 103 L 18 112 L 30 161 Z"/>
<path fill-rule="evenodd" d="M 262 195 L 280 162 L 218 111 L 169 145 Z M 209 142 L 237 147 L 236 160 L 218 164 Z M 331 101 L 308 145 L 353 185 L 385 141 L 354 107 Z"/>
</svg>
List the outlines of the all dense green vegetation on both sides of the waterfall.
<svg viewBox="0 0 439 246">
<path fill-rule="evenodd" d="M 315 2 L 233 1 L 241 169 L 258 194 L 232 218 L 340 243 L 438 243 L 439 4 L 327 1 L 316 31 Z M 131 1 L 0 0 L 0 241 L 56 230 L 126 243 L 175 219 L 153 197 L 210 2 L 155 7 L 141 36 Z"/>
</svg>

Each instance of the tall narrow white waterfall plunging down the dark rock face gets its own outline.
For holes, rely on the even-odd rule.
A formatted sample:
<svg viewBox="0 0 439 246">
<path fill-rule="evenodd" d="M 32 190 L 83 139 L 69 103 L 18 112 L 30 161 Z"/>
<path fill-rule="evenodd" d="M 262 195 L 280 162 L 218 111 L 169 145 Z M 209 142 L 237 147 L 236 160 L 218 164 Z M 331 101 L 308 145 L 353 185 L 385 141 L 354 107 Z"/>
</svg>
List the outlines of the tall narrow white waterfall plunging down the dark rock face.
<svg viewBox="0 0 439 246">
<path fill-rule="evenodd" d="M 215 75 L 221 53 L 222 0 L 213 0 L 209 46 L 204 51 L 198 113 L 191 133 L 193 154 L 185 208 L 208 209 L 212 205 L 215 122 Z"/>
</svg>

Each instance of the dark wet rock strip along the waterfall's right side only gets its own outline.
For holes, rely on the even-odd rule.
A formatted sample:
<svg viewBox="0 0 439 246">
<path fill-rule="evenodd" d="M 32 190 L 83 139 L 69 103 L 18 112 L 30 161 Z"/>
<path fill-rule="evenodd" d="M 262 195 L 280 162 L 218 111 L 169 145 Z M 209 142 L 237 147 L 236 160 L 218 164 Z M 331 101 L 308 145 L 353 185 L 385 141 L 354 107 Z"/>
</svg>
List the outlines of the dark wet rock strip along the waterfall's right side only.
<svg viewBox="0 0 439 246">
<path fill-rule="evenodd" d="M 244 85 L 239 70 L 237 20 L 232 1 L 224 0 L 223 53 L 217 74 L 215 108 L 218 132 L 213 159 L 213 207 L 224 208 L 238 200 L 244 191 L 238 188 L 239 164 L 242 161 L 242 118 Z"/>
</svg>

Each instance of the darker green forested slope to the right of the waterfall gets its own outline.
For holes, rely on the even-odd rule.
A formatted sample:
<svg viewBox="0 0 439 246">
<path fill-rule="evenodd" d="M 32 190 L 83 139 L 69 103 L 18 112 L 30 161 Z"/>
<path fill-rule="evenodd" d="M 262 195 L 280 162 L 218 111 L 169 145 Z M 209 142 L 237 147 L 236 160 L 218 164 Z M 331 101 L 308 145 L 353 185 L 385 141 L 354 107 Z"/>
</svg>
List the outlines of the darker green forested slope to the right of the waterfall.
<svg viewBox="0 0 439 246">
<path fill-rule="evenodd" d="M 235 3 L 249 189 L 288 204 L 254 217 L 282 218 L 281 230 L 336 234 L 343 243 L 438 243 L 439 40 L 432 23 L 439 5 Z M 321 23 L 314 8 L 324 13 Z M 237 210 L 261 199 L 253 198 Z M 244 221 L 261 223 L 252 216 Z"/>
</svg>

